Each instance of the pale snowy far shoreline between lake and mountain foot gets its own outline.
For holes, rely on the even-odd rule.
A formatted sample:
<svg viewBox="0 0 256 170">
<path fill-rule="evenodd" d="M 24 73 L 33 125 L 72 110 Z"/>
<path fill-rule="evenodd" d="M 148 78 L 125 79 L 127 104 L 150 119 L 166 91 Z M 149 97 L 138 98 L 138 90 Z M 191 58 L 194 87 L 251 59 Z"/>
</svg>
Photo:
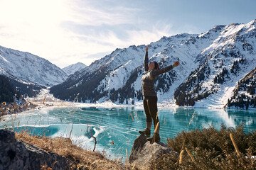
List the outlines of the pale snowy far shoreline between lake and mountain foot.
<svg viewBox="0 0 256 170">
<path fill-rule="evenodd" d="M 25 105 L 24 104 L 9 104 L 9 106 L 4 106 L 5 111 L 9 111 L 8 113 L 1 113 L 0 118 L 4 115 L 12 115 L 12 114 L 21 114 L 26 111 L 36 111 L 43 108 L 65 108 L 65 107 L 74 107 L 74 108 L 88 108 L 88 107 L 95 107 L 95 108 L 130 108 L 134 107 L 140 110 L 143 110 L 143 103 L 142 102 L 135 102 L 134 105 L 129 104 L 116 104 L 112 103 L 112 101 L 104 101 L 102 103 L 77 103 L 77 102 L 70 102 L 70 101 L 63 101 L 58 98 L 55 98 L 53 94 L 50 94 L 47 89 L 41 91 L 38 96 L 33 98 L 25 98 Z M 14 107 L 18 108 L 14 111 Z M 3 106 L 0 107 L 3 110 Z M 165 109 L 210 109 L 210 110 L 220 110 L 220 111 L 256 111 L 256 108 L 249 108 L 249 109 L 242 109 L 242 108 L 221 108 L 221 107 L 195 107 L 195 106 L 177 106 L 174 103 L 158 103 L 158 108 L 160 110 Z M 10 112 L 11 111 L 11 112 Z"/>
</svg>

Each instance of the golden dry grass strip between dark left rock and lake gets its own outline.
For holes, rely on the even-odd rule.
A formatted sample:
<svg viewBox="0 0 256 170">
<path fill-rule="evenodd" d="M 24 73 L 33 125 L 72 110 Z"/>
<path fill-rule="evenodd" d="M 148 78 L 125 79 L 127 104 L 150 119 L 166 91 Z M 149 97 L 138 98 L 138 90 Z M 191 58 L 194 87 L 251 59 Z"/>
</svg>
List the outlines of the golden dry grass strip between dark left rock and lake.
<svg viewBox="0 0 256 170">
<path fill-rule="evenodd" d="M 26 132 L 16 133 L 16 138 L 39 147 L 46 152 L 54 152 L 70 162 L 70 169 L 130 169 L 122 162 L 107 159 L 99 152 L 91 152 L 72 144 L 68 138 L 49 138 L 28 135 Z M 48 169 L 50 167 L 46 167 Z M 45 169 L 45 167 L 43 167 Z"/>
</svg>

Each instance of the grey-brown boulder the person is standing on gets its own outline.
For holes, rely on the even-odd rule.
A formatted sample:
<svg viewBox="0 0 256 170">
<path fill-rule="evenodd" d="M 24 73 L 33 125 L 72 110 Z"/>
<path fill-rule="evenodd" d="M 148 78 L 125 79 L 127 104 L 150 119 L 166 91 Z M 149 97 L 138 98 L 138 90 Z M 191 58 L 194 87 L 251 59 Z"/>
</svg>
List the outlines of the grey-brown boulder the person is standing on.
<svg viewBox="0 0 256 170">
<path fill-rule="evenodd" d="M 176 152 L 167 147 L 164 143 L 154 142 L 150 144 L 150 142 L 146 140 L 145 135 L 140 135 L 134 140 L 132 152 L 129 156 L 129 163 L 132 166 L 136 166 L 138 169 L 150 169 L 151 162 L 161 157 L 163 154 L 177 155 Z"/>
</svg>

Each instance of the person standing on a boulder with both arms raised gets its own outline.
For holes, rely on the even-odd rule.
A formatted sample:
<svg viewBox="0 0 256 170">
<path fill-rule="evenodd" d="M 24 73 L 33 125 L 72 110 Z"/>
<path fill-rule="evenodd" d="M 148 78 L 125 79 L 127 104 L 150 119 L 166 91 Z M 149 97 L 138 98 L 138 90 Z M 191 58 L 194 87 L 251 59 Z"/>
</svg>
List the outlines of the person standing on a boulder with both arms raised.
<svg viewBox="0 0 256 170">
<path fill-rule="evenodd" d="M 156 78 L 160 74 L 164 74 L 169 72 L 174 67 L 179 65 L 179 62 L 176 61 L 174 64 L 159 69 L 159 64 L 157 62 L 149 62 L 149 45 L 146 46 L 146 55 L 144 58 L 144 69 L 145 73 L 142 76 L 142 95 L 143 95 L 143 106 L 146 114 L 146 128 L 144 130 L 139 130 L 139 133 L 142 135 L 146 135 L 147 140 L 152 142 L 160 142 L 159 136 L 159 127 L 156 129 L 157 123 L 159 123 L 159 118 L 157 116 L 157 95 L 154 90 L 154 83 Z M 154 122 L 154 135 L 151 135 L 151 125 L 152 120 Z"/>
</svg>

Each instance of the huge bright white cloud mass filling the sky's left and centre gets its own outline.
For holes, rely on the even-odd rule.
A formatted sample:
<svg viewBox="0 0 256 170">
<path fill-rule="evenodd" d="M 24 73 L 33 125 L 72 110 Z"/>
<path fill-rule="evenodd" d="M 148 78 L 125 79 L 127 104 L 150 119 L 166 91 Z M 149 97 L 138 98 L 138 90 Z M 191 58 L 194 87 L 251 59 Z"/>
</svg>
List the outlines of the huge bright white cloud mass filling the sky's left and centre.
<svg viewBox="0 0 256 170">
<path fill-rule="evenodd" d="M 151 11 L 137 3 L 0 0 L 0 42 L 65 67 L 176 33 L 168 21 L 151 21 Z"/>
</svg>

